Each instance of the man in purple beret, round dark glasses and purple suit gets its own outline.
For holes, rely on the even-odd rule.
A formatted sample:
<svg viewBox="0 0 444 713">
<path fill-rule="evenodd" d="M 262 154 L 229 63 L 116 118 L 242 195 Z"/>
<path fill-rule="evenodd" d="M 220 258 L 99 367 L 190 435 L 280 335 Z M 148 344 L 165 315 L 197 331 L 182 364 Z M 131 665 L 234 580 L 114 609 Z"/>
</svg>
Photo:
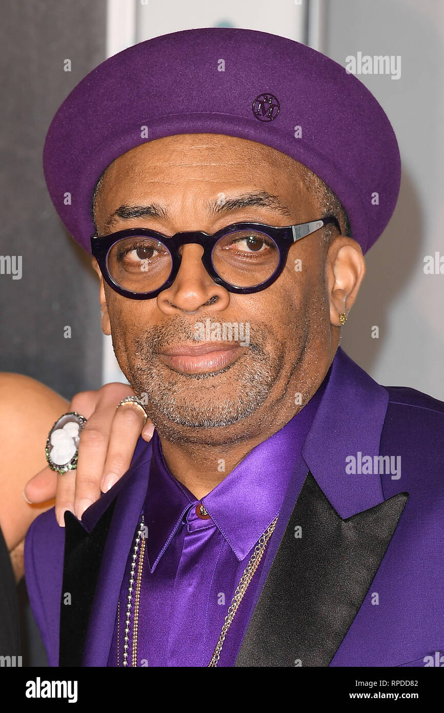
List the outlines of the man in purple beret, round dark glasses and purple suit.
<svg viewBox="0 0 444 713">
<path fill-rule="evenodd" d="M 91 72 L 44 165 L 156 429 L 29 530 L 50 665 L 428 665 L 444 407 L 339 347 L 398 196 L 381 106 L 299 43 L 184 31 Z"/>
</svg>

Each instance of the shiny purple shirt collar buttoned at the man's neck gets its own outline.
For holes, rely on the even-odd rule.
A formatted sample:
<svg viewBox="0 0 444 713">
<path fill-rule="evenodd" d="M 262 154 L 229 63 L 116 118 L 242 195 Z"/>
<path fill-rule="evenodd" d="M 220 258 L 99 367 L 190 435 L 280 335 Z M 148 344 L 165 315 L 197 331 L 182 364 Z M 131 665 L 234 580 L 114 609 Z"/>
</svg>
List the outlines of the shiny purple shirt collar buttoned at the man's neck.
<svg viewBox="0 0 444 713">
<path fill-rule="evenodd" d="M 329 372 L 330 373 L 330 372 Z M 202 498 L 237 560 L 243 560 L 279 513 L 292 468 L 324 393 L 329 374 L 309 403 L 276 434 L 259 443 Z M 145 498 L 147 555 L 153 571 L 190 506 L 200 502 L 170 473 L 157 433 Z M 209 521 L 210 522 L 210 521 Z"/>
</svg>

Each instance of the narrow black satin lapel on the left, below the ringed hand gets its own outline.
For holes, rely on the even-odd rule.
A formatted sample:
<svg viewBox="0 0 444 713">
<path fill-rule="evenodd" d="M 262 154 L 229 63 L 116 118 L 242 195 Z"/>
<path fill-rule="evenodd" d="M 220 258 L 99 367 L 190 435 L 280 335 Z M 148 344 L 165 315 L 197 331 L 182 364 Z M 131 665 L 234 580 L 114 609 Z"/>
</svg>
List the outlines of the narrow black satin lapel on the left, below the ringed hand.
<svg viewBox="0 0 444 713">
<path fill-rule="evenodd" d="M 60 607 L 60 653 L 63 666 L 81 666 L 88 620 L 103 548 L 115 500 L 88 533 L 72 513 L 65 513 L 65 553 Z"/>
</svg>

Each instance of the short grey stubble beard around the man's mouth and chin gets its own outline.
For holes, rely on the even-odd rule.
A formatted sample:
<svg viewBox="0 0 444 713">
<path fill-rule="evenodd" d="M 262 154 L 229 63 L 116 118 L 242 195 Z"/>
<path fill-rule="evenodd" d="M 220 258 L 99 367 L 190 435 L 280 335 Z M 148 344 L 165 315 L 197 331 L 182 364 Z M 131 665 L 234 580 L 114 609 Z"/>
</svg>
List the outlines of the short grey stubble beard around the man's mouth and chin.
<svg viewBox="0 0 444 713">
<path fill-rule="evenodd" d="M 163 431 L 174 441 L 181 440 L 180 428 L 217 429 L 238 424 L 264 404 L 282 367 L 282 359 L 262 348 L 267 339 L 262 327 L 255 327 L 248 351 L 215 375 L 180 374 L 162 364 L 158 356 L 161 347 L 191 342 L 192 335 L 190 324 L 182 317 L 162 328 L 151 327 L 135 339 L 138 360 L 128 364 L 130 384 L 139 396 L 146 394 L 148 411 L 160 435 Z M 234 380 L 230 379 L 233 370 L 237 374 Z M 232 397 L 220 399 L 217 392 L 224 384 L 232 387 Z M 199 394 L 197 399 L 180 396 L 181 391 L 190 394 L 192 389 Z"/>
</svg>

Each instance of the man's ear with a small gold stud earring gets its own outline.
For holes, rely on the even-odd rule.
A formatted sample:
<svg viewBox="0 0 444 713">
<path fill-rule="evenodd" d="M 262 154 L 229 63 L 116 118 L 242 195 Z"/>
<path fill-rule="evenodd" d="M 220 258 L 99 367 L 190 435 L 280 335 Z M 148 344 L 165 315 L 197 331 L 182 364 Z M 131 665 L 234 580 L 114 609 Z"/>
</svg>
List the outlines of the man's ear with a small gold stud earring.
<svg viewBox="0 0 444 713">
<path fill-rule="evenodd" d="M 330 299 L 330 322 L 341 327 L 339 315 L 347 315 L 366 274 L 361 245 L 351 237 L 339 235 L 331 243 L 326 256 L 326 284 Z"/>
</svg>

